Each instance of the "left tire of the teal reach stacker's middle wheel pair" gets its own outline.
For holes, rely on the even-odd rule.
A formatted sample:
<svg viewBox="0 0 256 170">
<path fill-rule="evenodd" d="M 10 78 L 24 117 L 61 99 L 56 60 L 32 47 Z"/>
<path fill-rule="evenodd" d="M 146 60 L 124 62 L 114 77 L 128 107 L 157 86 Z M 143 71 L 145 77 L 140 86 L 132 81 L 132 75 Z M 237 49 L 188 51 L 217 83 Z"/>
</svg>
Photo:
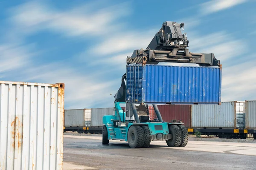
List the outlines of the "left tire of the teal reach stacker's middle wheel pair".
<svg viewBox="0 0 256 170">
<path fill-rule="evenodd" d="M 139 125 L 133 125 L 128 130 L 128 144 L 131 148 L 140 148 L 145 142 L 144 130 Z"/>
</svg>

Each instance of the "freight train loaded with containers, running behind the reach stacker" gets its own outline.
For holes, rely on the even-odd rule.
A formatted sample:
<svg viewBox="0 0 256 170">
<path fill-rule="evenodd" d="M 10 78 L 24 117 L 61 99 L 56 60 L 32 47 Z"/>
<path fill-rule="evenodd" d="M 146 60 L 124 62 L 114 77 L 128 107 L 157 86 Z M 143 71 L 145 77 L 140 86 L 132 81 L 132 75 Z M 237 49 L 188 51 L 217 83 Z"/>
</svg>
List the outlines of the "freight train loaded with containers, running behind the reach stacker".
<svg viewBox="0 0 256 170">
<path fill-rule="evenodd" d="M 256 101 L 221 102 L 221 105 L 157 105 L 164 122 L 183 122 L 189 134 L 197 131 L 227 139 L 256 139 Z M 125 111 L 125 107 L 122 107 Z M 102 117 L 113 115 L 114 108 L 91 108 L 64 111 L 64 132 L 102 133 Z M 150 120 L 157 119 L 148 105 Z M 131 118 L 126 118 L 131 119 Z"/>
</svg>

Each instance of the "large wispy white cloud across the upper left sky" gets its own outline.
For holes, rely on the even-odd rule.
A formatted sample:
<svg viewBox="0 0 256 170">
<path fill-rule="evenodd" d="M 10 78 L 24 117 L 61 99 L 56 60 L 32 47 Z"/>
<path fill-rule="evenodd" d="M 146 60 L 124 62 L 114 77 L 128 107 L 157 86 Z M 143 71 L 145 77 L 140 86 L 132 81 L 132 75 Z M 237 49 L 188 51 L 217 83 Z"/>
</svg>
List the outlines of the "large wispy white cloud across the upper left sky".
<svg viewBox="0 0 256 170">
<path fill-rule="evenodd" d="M 12 10 L 12 21 L 26 33 L 48 29 L 66 36 L 93 36 L 118 29 L 122 23 L 116 24 L 114 21 L 130 11 L 127 10 L 128 3 L 99 9 L 88 8 L 91 5 L 60 11 L 45 3 L 29 2 Z"/>
</svg>

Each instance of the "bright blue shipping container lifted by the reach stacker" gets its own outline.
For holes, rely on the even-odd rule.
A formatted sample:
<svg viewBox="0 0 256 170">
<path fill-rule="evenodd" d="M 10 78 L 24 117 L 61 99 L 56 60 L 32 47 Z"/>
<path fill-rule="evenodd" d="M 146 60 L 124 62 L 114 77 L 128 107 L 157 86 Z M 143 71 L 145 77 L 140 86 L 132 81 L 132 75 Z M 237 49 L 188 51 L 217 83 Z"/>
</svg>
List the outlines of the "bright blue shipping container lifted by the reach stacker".
<svg viewBox="0 0 256 170">
<path fill-rule="evenodd" d="M 221 68 L 127 65 L 126 101 L 220 104 Z"/>
</svg>

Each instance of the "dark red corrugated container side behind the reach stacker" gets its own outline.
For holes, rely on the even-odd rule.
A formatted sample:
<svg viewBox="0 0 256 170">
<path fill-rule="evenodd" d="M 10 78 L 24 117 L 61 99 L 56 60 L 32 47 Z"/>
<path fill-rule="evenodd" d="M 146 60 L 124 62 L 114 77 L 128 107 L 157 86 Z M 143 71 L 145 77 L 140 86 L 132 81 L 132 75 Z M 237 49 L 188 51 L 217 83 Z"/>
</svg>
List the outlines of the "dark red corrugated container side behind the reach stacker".
<svg viewBox="0 0 256 170">
<path fill-rule="evenodd" d="M 157 105 L 165 122 L 182 120 L 184 125 L 191 127 L 191 105 Z"/>
</svg>

